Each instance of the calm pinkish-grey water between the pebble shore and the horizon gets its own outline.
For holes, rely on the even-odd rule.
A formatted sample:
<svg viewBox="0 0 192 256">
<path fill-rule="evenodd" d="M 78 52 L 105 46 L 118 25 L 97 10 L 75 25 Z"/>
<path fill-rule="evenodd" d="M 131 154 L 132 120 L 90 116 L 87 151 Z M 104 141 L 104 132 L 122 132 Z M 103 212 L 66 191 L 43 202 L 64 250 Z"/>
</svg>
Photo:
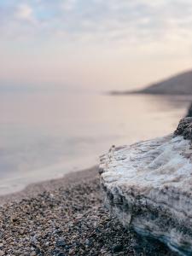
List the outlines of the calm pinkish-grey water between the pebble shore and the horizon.
<svg viewBox="0 0 192 256">
<path fill-rule="evenodd" d="M 172 132 L 186 97 L 94 94 L 0 96 L 0 194 L 98 163 L 115 144 Z"/>
</svg>

